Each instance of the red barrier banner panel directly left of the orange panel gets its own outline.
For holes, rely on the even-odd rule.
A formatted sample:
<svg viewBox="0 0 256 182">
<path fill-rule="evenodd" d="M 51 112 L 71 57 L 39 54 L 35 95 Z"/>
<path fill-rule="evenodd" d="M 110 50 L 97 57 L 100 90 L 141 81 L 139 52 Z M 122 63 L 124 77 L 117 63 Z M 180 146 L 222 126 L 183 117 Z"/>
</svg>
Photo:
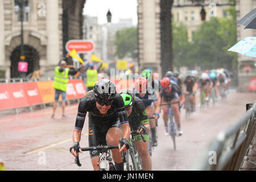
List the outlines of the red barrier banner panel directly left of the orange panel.
<svg viewBox="0 0 256 182">
<path fill-rule="evenodd" d="M 30 106 L 43 104 L 36 82 L 23 82 L 23 89 Z"/>
</svg>

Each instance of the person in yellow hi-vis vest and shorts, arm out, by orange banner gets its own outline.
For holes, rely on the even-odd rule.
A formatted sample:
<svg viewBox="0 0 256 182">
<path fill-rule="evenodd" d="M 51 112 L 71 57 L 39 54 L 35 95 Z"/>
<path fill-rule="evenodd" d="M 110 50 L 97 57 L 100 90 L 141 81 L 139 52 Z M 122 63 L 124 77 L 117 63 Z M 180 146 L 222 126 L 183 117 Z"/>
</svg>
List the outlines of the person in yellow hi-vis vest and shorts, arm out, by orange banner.
<svg viewBox="0 0 256 182">
<path fill-rule="evenodd" d="M 55 110 L 57 107 L 57 101 L 59 101 L 59 96 L 61 94 L 62 101 L 62 119 L 67 118 L 65 115 L 65 101 L 66 101 L 66 91 L 68 86 L 69 75 L 76 75 L 77 71 L 75 69 L 67 68 L 67 62 L 61 60 L 60 64 L 55 68 L 55 77 L 53 82 L 53 88 L 55 89 L 55 102 L 53 103 L 53 112 L 51 118 L 54 119 Z"/>
</svg>

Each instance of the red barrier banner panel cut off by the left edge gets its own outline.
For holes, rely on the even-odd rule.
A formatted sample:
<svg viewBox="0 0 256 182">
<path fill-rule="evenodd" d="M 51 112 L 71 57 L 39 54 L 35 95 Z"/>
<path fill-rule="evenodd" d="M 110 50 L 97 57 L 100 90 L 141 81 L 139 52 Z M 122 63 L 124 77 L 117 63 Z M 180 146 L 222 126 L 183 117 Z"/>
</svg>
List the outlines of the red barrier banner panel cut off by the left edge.
<svg viewBox="0 0 256 182">
<path fill-rule="evenodd" d="M 14 108 L 13 98 L 10 97 L 9 84 L 0 84 L 0 110 Z"/>
</svg>

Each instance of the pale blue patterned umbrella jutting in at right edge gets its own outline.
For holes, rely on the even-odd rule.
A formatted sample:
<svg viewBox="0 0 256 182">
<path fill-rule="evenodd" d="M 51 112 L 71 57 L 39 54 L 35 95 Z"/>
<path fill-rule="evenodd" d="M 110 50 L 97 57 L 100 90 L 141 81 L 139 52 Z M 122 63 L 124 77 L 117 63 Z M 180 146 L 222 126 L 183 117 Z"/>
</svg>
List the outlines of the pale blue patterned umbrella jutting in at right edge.
<svg viewBox="0 0 256 182">
<path fill-rule="evenodd" d="M 238 52 L 244 56 L 256 57 L 256 37 L 247 37 L 229 48 L 228 51 Z"/>
</svg>

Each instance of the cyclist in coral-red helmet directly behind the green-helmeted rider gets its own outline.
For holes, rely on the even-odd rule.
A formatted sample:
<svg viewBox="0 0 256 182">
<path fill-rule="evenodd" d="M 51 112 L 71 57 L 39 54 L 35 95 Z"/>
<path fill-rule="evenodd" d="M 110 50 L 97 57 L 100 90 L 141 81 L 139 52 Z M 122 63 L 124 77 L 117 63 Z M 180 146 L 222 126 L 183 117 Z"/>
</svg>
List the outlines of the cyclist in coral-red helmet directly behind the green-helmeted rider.
<svg viewBox="0 0 256 182">
<path fill-rule="evenodd" d="M 152 117 L 152 115 L 155 117 L 154 119 L 150 119 L 150 130 L 152 134 L 152 146 L 156 147 L 158 145 L 157 137 L 156 137 L 156 123 L 155 119 L 159 118 L 159 102 L 158 97 L 156 96 L 156 93 L 154 92 L 154 89 L 147 84 L 146 78 L 140 77 L 137 80 L 135 80 L 135 88 L 133 90 L 135 93 L 135 96 L 139 97 L 144 106 L 146 107 L 147 115 Z M 152 107 L 152 104 L 154 107 Z"/>
</svg>

